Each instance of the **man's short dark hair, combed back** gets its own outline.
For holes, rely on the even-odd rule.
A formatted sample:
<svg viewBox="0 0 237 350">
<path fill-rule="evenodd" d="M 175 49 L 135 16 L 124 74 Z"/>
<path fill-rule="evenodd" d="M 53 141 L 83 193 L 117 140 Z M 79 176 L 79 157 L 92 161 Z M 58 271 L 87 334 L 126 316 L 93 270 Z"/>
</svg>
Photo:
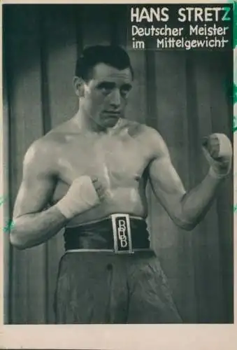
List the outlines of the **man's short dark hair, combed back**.
<svg viewBox="0 0 237 350">
<path fill-rule="evenodd" d="M 105 63 L 117 69 L 129 68 L 134 78 L 129 55 L 117 45 L 95 45 L 85 48 L 76 62 L 75 75 L 85 81 L 89 80 L 89 74 L 99 63 Z"/>
</svg>

